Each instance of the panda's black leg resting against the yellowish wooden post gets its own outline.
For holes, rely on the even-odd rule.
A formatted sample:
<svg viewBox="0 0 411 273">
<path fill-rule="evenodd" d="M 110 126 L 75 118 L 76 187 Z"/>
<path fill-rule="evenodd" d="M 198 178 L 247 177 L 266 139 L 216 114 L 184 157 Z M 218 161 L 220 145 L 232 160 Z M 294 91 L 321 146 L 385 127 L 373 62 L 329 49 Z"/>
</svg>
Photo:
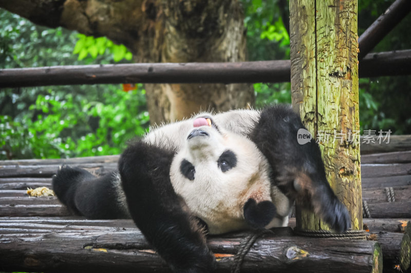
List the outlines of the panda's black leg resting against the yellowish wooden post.
<svg viewBox="0 0 411 273">
<path fill-rule="evenodd" d="M 272 167 L 272 181 L 287 196 L 306 202 L 331 228 L 343 232 L 350 227 L 345 206 L 330 188 L 320 148 L 314 139 L 297 141 L 305 126 L 288 105 L 266 108 L 250 135 Z M 296 187 L 295 187 L 296 186 Z"/>
</svg>

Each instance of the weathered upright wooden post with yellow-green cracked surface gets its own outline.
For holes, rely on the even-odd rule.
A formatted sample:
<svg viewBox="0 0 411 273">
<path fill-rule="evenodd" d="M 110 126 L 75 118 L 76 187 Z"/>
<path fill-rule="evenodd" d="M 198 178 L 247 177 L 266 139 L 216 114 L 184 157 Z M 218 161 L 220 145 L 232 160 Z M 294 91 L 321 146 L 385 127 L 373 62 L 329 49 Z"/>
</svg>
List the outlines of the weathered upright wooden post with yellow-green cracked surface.
<svg viewBox="0 0 411 273">
<path fill-rule="evenodd" d="M 290 0 L 290 14 L 293 107 L 319 140 L 327 179 L 350 211 L 352 229 L 359 230 L 357 0 Z M 296 217 L 298 228 L 329 229 L 298 206 Z"/>
</svg>

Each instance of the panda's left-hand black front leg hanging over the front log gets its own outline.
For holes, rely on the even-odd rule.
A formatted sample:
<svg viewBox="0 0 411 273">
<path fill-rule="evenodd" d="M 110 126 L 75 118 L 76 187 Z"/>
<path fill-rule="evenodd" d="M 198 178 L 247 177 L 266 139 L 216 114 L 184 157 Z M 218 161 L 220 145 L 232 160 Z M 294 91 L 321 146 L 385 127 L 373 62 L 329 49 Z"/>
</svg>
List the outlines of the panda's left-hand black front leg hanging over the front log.
<svg viewBox="0 0 411 273">
<path fill-rule="evenodd" d="M 173 151 L 142 141 L 127 148 L 119 171 L 137 227 L 175 272 L 210 272 L 215 259 L 204 231 L 170 181 Z"/>
</svg>

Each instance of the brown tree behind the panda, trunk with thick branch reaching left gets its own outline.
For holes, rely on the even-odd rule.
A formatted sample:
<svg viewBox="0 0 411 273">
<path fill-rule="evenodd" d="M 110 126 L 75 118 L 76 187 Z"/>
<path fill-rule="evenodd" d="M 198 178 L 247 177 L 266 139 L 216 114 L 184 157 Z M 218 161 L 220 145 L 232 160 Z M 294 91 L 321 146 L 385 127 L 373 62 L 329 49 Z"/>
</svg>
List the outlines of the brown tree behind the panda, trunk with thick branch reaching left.
<svg viewBox="0 0 411 273">
<path fill-rule="evenodd" d="M 106 36 L 136 62 L 236 62 L 246 59 L 237 0 L 0 0 L 0 7 L 48 27 Z M 146 84 L 151 122 L 254 104 L 249 84 Z"/>
</svg>

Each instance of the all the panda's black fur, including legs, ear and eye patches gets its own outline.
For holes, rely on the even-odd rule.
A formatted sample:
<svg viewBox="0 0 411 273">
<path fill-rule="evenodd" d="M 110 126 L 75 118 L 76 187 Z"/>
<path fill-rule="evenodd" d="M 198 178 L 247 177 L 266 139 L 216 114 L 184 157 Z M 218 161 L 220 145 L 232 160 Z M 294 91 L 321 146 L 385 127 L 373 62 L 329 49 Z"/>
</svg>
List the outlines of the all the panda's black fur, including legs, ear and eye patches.
<svg viewBox="0 0 411 273">
<path fill-rule="evenodd" d="M 300 128 L 304 128 L 300 117 L 290 107 L 269 107 L 261 113 L 249 137 L 267 157 L 274 185 L 291 199 L 308 202 L 332 228 L 344 231 L 349 227 L 349 214 L 327 183 L 318 145 L 314 141 L 298 144 Z M 171 185 L 174 154 L 144 142 L 124 151 L 119 172 L 128 210 L 148 242 L 175 272 L 210 272 L 215 259 L 204 238 L 205 223 L 190 214 Z M 236 160 L 227 160 L 233 158 L 220 160 L 221 168 L 235 166 Z M 113 183 L 113 174 L 97 178 L 67 166 L 53 178 L 54 191 L 72 211 L 100 219 L 124 216 Z M 246 221 L 255 228 L 266 226 L 275 214 L 271 202 L 257 204 L 249 199 L 244 207 Z"/>
</svg>

